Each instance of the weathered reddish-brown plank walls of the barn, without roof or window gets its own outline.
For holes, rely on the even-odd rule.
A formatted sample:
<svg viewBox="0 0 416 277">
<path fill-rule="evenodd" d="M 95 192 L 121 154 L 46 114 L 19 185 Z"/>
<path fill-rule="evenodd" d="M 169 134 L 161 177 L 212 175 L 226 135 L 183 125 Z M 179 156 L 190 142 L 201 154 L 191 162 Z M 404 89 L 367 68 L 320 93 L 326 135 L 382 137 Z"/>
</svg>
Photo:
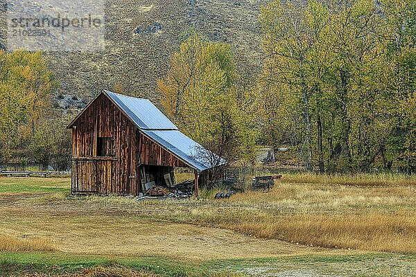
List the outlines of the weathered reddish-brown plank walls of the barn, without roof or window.
<svg viewBox="0 0 416 277">
<path fill-rule="evenodd" d="M 114 156 L 97 157 L 100 137 L 114 139 Z M 141 134 L 103 93 L 73 123 L 72 145 L 72 193 L 137 195 L 142 190 L 139 166 L 187 167 Z"/>
</svg>

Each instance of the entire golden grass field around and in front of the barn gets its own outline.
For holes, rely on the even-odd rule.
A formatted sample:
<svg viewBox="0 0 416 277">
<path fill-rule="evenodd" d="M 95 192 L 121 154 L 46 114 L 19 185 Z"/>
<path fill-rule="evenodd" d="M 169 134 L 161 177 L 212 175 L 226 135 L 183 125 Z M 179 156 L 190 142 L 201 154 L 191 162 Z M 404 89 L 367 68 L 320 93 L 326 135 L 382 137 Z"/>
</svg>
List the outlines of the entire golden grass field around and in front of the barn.
<svg viewBox="0 0 416 277">
<path fill-rule="evenodd" d="M 214 200 L 0 177 L 0 276 L 416 276 L 416 179 L 284 175 Z"/>
</svg>

